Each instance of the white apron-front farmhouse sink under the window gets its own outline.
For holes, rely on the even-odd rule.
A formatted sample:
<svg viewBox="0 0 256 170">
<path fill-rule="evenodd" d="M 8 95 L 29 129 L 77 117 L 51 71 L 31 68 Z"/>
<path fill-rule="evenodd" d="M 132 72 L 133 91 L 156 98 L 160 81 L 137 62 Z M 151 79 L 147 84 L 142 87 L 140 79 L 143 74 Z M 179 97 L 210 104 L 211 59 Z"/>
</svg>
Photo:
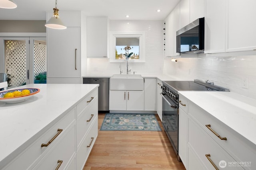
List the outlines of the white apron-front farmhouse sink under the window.
<svg viewBox="0 0 256 170">
<path fill-rule="evenodd" d="M 140 74 L 114 74 L 110 90 L 144 90 L 144 79 Z"/>
</svg>

